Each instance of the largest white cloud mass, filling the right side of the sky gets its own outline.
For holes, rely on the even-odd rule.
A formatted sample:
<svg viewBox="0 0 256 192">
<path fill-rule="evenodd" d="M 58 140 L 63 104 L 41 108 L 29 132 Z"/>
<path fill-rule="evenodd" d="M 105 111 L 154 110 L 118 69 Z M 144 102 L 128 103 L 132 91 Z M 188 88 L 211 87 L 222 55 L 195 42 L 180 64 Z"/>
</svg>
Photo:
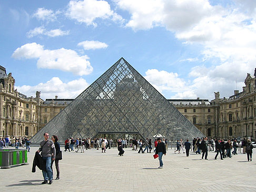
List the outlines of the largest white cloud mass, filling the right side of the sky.
<svg viewBox="0 0 256 192">
<path fill-rule="evenodd" d="M 243 85 L 256 63 L 256 3 L 234 0 L 230 6 L 211 5 L 208 0 L 115 0 L 131 14 L 126 27 L 134 31 L 163 26 L 184 44 L 200 45 L 202 62 L 211 66 L 191 69 L 191 82 L 176 96 L 209 98 L 219 91 L 233 94 L 235 79 Z M 196 59 L 195 59 L 196 60 Z M 181 61 L 193 62 L 194 59 Z M 163 85 L 166 85 L 163 84 Z M 158 86 L 163 86 L 158 85 Z M 169 85 L 166 85 L 169 87 Z M 171 86 L 170 86 L 171 87 Z M 240 88 L 241 91 L 241 87 Z M 165 87 L 165 89 L 168 89 Z"/>
</svg>

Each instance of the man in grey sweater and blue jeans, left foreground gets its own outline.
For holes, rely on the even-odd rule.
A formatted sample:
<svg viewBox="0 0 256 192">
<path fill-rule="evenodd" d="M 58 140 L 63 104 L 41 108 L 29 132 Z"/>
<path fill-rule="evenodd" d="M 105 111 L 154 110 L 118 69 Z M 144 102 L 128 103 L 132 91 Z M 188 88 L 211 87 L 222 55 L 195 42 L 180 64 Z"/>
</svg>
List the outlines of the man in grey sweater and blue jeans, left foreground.
<svg viewBox="0 0 256 192">
<path fill-rule="evenodd" d="M 44 140 L 40 142 L 40 147 L 36 151 L 41 153 L 43 159 L 46 161 L 46 170 L 42 170 L 44 181 L 42 184 L 47 184 L 49 180 L 49 184 L 53 183 L 53 171 L 51 168 L 52 160 L 55 160 L 56 149 L 52 140 L 49 140 L 49 134 L 44 133 Z"/>
</svg>

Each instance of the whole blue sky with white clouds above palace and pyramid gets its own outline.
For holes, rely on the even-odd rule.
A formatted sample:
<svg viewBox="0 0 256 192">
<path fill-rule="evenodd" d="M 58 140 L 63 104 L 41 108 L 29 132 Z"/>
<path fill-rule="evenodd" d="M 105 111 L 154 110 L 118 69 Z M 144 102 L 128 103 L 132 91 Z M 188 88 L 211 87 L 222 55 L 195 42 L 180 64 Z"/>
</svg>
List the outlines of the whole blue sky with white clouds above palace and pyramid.
<svg viewBox="0 0 256 192">
<path fill-rule="evenodd" d="M 254 0 L 0 0 L 0 65 L 18 92 L 75 98 L 123 57 L 167 99 L 242 92 Z"/>
</svg>

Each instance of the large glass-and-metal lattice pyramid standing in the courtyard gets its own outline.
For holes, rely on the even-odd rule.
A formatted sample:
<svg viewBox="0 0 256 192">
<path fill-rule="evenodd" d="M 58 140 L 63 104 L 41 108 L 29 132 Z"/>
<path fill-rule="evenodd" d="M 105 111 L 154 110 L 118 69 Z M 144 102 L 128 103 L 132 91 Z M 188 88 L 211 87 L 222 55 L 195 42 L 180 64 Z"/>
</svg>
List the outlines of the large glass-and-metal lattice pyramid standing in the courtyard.
<svg viewBox="0 0 256 192">
<path fill-rule="evenodd" d="M 139 134 L 169 140 L 201 137 L 203 134 L 164 98 L 124 58 L 119 59 L 77 96 L 34 137 L 43 133 L 66 138 L 94 138 L 97 134 Z"/>
</svg>

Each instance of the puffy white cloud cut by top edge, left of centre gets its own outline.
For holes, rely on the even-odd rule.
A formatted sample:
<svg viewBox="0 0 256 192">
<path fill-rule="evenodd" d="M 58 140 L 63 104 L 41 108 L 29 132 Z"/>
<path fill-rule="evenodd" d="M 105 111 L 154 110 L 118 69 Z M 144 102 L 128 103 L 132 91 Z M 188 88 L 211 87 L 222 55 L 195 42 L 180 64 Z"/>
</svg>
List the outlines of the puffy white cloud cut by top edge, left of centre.
<svg viewBox="0 0 256 192">
<path fill-rule="evenodd" d="M 110 4 L 106 1 L 70 1 L 66 15 L 80 23 L 94 26 L 97 26 L 94 22 L 97 18 L 110 18 L 113 21 L 122 21 L 122 17 L 114 13 L 114 11 L 111 10 Z"/>
</svg>

